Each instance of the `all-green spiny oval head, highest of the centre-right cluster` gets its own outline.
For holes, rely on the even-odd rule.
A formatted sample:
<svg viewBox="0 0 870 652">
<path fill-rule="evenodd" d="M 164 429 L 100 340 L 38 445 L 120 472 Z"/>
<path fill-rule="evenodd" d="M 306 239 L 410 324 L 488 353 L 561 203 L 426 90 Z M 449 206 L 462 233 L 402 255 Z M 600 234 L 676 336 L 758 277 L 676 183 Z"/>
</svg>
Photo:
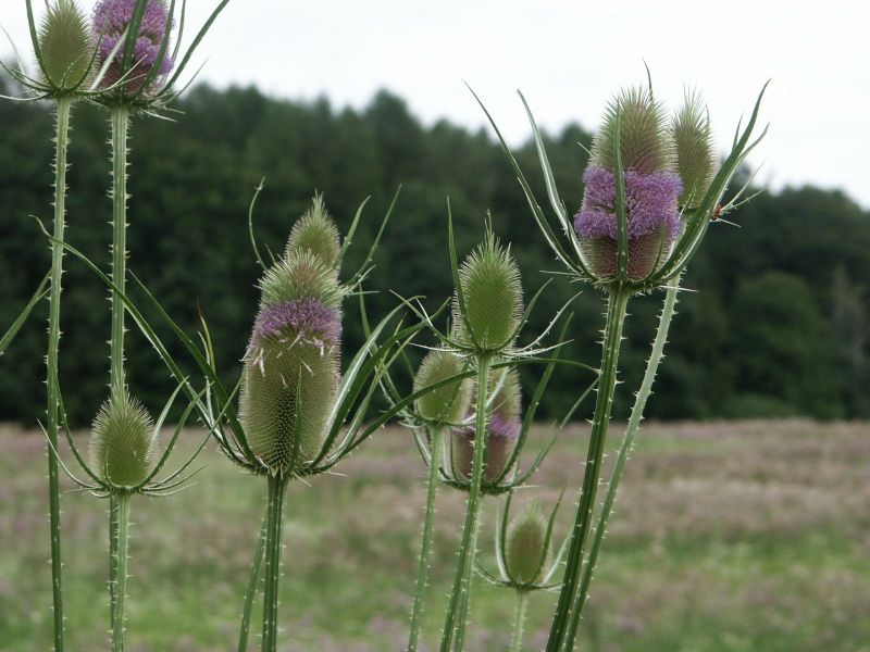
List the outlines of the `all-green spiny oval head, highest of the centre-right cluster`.
<svg viewBox="0 0 870 652">
<path fill-rule="evenodd" d="M 510 248 L 501 247 L 492 233 L 487 234 L 459 267 L 459 284 L 465 308 L 463 317 L 459 297 L 453 297 L 459 340 L 490 352 L 510 346 L 523 306 L 520 268 Z"/>
</svg>

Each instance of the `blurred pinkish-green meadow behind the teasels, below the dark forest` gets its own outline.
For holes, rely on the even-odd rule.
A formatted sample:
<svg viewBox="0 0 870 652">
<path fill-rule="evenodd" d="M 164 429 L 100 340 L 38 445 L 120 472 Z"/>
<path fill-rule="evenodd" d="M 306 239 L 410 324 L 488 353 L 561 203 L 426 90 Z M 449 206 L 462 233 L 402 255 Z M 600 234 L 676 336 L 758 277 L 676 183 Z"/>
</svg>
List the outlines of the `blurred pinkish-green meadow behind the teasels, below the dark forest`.
<svg viewBox="0 0 870 652">
<path fill-rule="evenodd" d="M 198 436 L 187 432 L 183 448 Z M 573 491 L 585 442 L 586 428 L 567 430 L 527 496 L 547 507 L 562 486 Z M 0 427 L 0 650 L 48 650 L 45 444 L 41 435 Z M 188 490 L 134 504 L 128 652 L 236 649 L 265 488 L 212 450 L 201 460 L 208 466 Z M 407 431 L 387 429 L 338 471 L 290 489 L 283 649 L 399 651 L 423 516 L 422 463 Z M 443 488 L 438 506 L 427 650 L 445 609 L 463 498 Z M 494 507 L 484 505 L 487 562 Z M 63 498 L 73 652 L 107 649 L 105 509 L 80 492 Z M 573 506 L 563 507 L 560 536 L 572 517 Z M 542 649 L 554 601 L 532 597 L 529 650 Z M 511 606 L 509 593 L 476 582 L 469 651 L 507 648 Z M 581 649 L 870 651 L 870 425 L 647 425 Z"/>
</svg>

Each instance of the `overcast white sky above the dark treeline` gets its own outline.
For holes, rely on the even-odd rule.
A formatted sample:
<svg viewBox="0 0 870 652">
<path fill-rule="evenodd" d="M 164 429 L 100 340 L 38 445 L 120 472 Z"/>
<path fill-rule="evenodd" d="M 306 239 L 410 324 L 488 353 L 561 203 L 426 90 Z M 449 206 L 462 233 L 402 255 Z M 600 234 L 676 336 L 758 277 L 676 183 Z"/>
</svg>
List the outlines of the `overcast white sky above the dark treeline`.
<svg viewBox="0 0 870 652">
<path fill-rule="evenodd" d="M 0 24 L 26 46 L 23 0 L 0 2 Z M 197 25 L 212 5 L 188 3 Z M 760 180 L 838 187 L 870 208 L 869 30 L 858 0 L 231 0 L 200 60 L 219 87 L 353 106 L 385 87 L 426 124 L 476 127 L 465 79 L 514 142 L 530 134 L 517 88 L 546 128 L 593 128 L 613 90 L 645 80 L 646 60 L 670 103 L 686 84 L 703 91 L 724 148 L 772 78 L 770 135 L 750 160 L 766 162 Z"/>
</svg>

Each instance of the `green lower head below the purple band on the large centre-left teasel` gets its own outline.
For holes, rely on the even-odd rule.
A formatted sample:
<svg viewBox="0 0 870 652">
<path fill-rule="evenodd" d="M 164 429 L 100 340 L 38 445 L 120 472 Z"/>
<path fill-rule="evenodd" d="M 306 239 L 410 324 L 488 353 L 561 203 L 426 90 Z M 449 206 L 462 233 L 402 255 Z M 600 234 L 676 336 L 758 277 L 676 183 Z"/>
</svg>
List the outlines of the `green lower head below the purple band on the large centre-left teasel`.
<svg viewBox="0 0 870 652">
<path fill-rule="evenodd" d="M 254 454 L 294 473 L 320 452 L 338 391 L 337 346 L 264 338 L 245 361 L 240 416 Z"/>
</svg>

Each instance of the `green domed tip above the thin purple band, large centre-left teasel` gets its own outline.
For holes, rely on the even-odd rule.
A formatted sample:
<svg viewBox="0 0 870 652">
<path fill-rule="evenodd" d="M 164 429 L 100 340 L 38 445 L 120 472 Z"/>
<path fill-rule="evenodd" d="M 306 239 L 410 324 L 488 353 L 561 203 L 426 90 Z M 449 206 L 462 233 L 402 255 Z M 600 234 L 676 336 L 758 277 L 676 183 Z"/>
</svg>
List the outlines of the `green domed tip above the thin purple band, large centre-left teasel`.
<svg viewBox="0 0 870 652">
<path fill-rule="evenodd" d="M 335 269 L 309 250 L 296 250 L 266 269 L 260 279 L 260 306 L 316 299 L 338 308 L 344 290 Z"/>
</svg>

